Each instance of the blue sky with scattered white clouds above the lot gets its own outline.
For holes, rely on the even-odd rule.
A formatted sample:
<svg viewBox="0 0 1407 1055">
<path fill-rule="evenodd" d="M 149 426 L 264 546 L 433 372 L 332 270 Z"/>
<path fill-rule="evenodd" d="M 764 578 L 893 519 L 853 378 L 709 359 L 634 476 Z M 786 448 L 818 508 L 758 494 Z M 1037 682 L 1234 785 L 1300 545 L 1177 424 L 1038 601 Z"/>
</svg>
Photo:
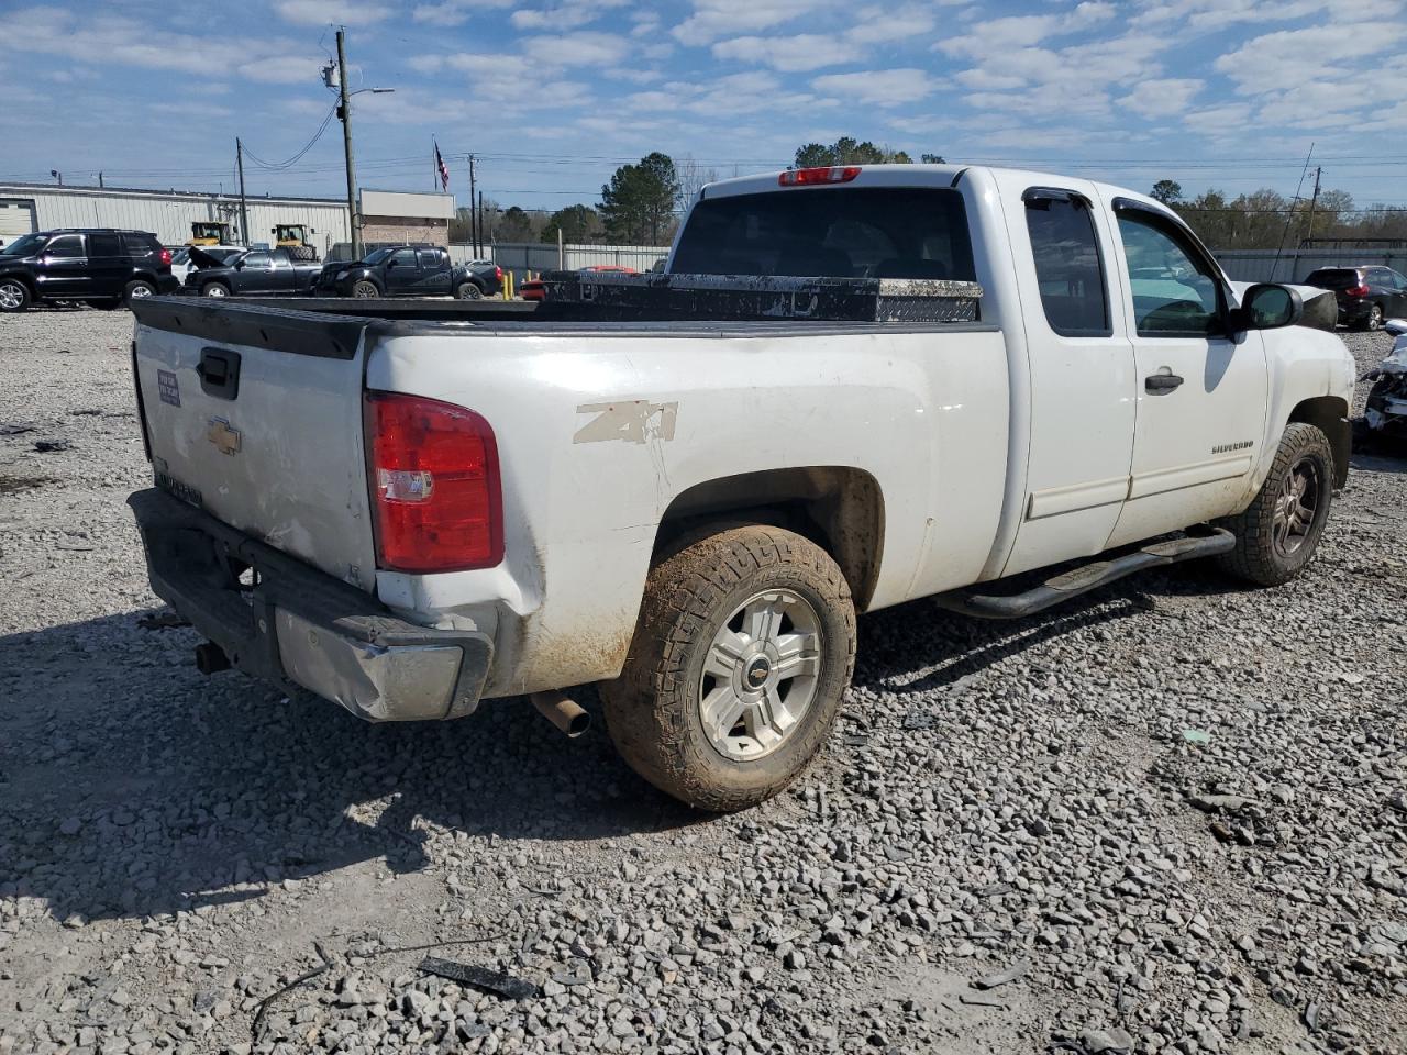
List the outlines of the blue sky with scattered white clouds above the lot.
<svg viewBox="0 0 1407 1055">
<path fill-rule="evenodd" d="M 720 176 L 840 135 L 1138 190 L 1407 205 L 1403 0 L 0 0 L 0 179 L 215 190 L 234 138 L 298 152 L 346 25 L 362 186 L 428 190 L 431 136 L 501 204 L 592 203 L 650 151 Z M 1368 122 L 1372 122 L 1370 127 Z M 343 193 L 336 122 L 250 193 Z M 1306 188 L 1307 193 L 1307 188 Z"/>
</svg>

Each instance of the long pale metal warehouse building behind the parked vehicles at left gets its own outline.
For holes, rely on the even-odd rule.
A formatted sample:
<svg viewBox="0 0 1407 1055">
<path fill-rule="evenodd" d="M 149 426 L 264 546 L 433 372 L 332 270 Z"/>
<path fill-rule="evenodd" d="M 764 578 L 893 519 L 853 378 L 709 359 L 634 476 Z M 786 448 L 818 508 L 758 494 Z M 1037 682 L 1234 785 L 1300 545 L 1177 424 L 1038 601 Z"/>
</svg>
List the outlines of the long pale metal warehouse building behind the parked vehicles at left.
<svg viewBox="0 0 1407 1055">
<path fill-rule="evenodd" d="M 249 242 L 272 242 L 274 224 L 304 224 L 319 256 L 352 239 L 346 201 L 339 198 L 246 198 Z M 449 243 L 450 194 L 364 191 L 367 241 Z M 48 183 L 0 183 L 0 242 L 58 226 L 115 226 L 151 231 L 163 245 L 184 245 L 193 221 L 218 219 L 239 238 L 239 197 L 183 190 L 127 187 L 61 187 Z M 373 236 L 374 235 L 374 236 Z"/>
</svg>

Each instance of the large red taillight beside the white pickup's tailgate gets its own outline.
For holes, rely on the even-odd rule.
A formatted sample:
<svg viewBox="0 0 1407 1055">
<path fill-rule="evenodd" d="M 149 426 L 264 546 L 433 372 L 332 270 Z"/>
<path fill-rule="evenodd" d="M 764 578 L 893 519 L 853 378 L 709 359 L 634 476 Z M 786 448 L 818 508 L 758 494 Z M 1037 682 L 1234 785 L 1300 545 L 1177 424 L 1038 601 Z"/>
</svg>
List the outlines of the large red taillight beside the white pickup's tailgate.
<svg viewBox="0 0 1407 1055">
<path fill-rule="evenodd" d="M 377 565 L 491 568 L 504 558 L 498 445 L 464 407 L 418 395 L 366 397 Z"/>
</svg>

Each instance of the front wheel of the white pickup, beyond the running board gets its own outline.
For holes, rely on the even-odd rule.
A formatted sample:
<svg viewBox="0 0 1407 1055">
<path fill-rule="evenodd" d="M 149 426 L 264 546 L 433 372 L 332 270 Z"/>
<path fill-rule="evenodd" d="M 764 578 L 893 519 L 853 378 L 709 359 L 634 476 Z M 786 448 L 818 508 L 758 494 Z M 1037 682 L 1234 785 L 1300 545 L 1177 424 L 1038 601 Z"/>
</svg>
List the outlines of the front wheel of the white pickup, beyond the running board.
<svg viewBox="0 0 1407 1055">
<path fill-rule="evenodd" d="M 1262 587 L 1289 582 L 1314 557 L 1332 497 L 1328 436 L 1314 425 L 1290 422 L 1255 501 L 1220 525 L 1235 536 L 1235 549 L 1218 557 L 1221 567 Z"/>
</svg>

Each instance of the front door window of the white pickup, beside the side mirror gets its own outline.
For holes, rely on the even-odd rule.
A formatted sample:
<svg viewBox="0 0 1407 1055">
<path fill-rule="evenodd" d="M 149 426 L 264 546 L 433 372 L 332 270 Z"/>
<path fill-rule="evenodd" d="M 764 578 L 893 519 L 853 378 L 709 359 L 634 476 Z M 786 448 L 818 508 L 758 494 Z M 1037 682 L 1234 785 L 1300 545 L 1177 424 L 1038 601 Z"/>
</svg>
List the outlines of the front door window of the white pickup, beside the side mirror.
<svg viewBox="0 0 1407 1055">
<path fill-rule="evenodd" d="M 1141 210 L 1119 211 L 1134 324 L 1141 338 L 1220 333 L 1220 280 L 1176 226 Z"/>
</svg>

